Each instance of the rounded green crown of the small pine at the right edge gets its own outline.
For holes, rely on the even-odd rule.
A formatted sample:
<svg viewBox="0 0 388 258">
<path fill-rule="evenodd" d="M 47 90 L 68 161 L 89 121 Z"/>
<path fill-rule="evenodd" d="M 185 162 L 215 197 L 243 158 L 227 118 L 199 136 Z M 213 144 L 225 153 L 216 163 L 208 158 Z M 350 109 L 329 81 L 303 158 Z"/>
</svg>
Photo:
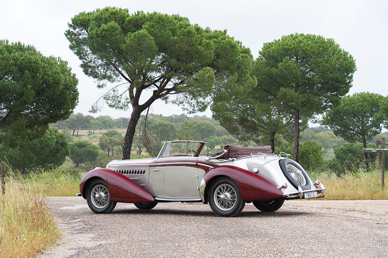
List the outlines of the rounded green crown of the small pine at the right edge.
<svg viewBox="0 0 388 258">
<path fill-rule="evenodd" d="M 345 96 L 340 104 L 326 112 L 323 124 L 346 141 L 366 141 L 381 132 L 386 114 L 383 111 L 384 97 L 361 92 Z"/>
</svg>

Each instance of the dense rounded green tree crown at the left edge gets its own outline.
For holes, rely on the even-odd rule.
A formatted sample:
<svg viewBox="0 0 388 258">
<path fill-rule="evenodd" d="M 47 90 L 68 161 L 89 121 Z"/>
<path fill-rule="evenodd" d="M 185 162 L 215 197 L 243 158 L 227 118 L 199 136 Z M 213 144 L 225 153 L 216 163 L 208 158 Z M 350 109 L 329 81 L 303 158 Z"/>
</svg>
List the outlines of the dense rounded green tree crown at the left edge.
<svg viewBox="0 0 388 258">
<path fill-rule="evenodd" d="M 67 62 L 0 40 L 0 130 L 9 145 L 21 134 L 38 138 L 49 123 L 66 119 L 78 102 L 77 84 Z"/>
</svg>

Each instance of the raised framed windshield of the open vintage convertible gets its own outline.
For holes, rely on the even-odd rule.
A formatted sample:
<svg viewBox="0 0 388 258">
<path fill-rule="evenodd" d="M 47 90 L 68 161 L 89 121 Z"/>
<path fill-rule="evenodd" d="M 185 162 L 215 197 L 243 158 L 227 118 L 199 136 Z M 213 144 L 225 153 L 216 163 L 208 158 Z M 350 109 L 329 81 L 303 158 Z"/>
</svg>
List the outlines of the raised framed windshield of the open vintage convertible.
<svg viewBox="0 0 388 258">
<path fill-rule="evenodd" d="M 164 145 L 160 157 L 172 157 L 172 156 L 197 156 L 204 145 L 203 142 L 190 142 L 190 141 L 178 141 L 168 142 Z M 190 151 L 194 150 L 194 152 Z"/>
</svg>

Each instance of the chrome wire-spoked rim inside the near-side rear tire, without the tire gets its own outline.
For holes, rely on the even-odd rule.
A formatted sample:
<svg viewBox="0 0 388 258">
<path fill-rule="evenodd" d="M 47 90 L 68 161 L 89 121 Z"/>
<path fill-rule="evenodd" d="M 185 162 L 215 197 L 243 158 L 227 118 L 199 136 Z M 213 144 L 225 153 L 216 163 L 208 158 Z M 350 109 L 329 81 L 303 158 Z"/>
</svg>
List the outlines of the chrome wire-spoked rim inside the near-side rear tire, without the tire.
<svg viewBox="0 0 388 258">
<path fill-rule="evenodd" d="M 214 191 L 214 203 L 220 210 L 232 210 L 237 202 L 237 194 L 229 184 L 221 184 Z"/>
</svg>

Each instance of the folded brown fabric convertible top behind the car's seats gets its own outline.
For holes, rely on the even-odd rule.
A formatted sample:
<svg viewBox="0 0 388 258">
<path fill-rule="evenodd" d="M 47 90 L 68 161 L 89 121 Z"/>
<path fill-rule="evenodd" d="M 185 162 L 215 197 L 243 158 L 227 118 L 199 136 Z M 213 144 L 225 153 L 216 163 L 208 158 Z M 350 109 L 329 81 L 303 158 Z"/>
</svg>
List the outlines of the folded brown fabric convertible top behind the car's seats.
<svg viewBox="0 0 388 258">
<path fill-rule="evenodd" d="M 271 146 L 261 146 L 261 147 L 242 147 L 242 146 L 232 146 L 232 145 L 224 145 L 224 149 L 227 150 L 226 154 L 222 156 L 220 159 L 222 160 L 227 160 L 229 158 L 235 158 L 235 159 L 240 159 L 243 157 L 248 157 L 253 155 L 257 155 L 258 152 L 261 152 L 263 154 L 272 154 L 272 149 Z M 223 153 L 224 150 L 220 150 L 217 152 L 214 152 L 211 154 L 211 157 L 215 157 Z"/>
</svg>

